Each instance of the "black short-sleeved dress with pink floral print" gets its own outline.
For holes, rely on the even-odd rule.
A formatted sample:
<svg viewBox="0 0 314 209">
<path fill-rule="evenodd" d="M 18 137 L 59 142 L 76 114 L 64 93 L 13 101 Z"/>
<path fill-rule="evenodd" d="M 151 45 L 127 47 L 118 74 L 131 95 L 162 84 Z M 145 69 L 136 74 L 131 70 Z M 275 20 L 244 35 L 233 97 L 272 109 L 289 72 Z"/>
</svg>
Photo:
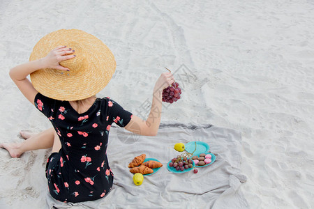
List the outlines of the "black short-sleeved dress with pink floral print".
<svg viewBox="0 0 314 209">
<path fill-rule="evenodd" d="M 107 160 L 108 134 L 113 122 L 124 127 L 132 114 L 110 98 L 97 98 L 84 114 L 78 114 L 68 101 L 40 93 L 35 106 L 51 121 L 62 146 L 46 165 L 52 197 L 75 203 L 100 199 L 110 192 L 113 173 Z"/>
</svg>

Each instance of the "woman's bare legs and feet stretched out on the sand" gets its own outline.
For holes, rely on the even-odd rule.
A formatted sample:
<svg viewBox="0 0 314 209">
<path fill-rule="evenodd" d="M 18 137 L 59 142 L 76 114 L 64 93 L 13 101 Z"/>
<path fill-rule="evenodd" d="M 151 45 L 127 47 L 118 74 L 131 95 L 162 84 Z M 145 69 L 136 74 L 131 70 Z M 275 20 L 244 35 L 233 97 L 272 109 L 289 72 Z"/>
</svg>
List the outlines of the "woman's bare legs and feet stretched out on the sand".
<svg viewBox="0 0 314 209">
<path fill-rule="evenodd" d="M 40 132 L 39 134 L 28 134 L 25 132 L 21 132 L 22 137 L 27 140 L 23 141 L 22 143 L 3 143 L 0 144 L 0 148 L 5 148 L 6 150 L 8 150 L 11 157 L 20 157 L 22 153 L 29 150 L 51 148 L 54 145 L 54 141 L 56 141 L 54 140 L 54 134 L 57 135 L 53 128 L 47 129 L 43 132 Z"/>
</svg>

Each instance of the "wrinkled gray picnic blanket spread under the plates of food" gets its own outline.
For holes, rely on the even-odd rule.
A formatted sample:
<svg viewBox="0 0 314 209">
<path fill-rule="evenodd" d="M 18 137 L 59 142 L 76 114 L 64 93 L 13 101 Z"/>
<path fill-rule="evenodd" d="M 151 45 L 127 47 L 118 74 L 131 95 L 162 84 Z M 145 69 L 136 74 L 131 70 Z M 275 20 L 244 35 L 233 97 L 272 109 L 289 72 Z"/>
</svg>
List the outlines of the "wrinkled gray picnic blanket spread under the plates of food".
<svg viewBox="0 0 314 209">
<path fill-rule="evenodd" d="M 172 173 L 167 163 L 180 153 L 174 144 L 204 141 L 216 161 L 198 168 L 198 173 Z M 209 124 L 162 123 L 158 134 L 145 137 L 124 128 L 110 129 L 107 156 L 114 173 L 110 193 L 97 201 L 61 203 L 47 194 L 48 208 L 249 208 L 239 191 L 246 176 L 241 173 L 241 134 L 236 130 Z M 144 176 L 142 185 L 133 184 L 128 163 L 145 153 L 159 160 L 163 167 Z"/>
</svg>

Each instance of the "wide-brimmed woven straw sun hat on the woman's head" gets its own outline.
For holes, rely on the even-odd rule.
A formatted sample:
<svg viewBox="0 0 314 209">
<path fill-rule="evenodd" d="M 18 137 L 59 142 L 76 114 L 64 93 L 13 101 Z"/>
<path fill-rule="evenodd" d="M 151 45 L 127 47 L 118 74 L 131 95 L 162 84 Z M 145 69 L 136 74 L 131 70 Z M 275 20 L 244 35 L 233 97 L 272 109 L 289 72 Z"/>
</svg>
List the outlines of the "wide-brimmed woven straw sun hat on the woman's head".
<svg viewBox="0 0 314 209">
<path fill-rule="evenodd" d="M 55 100 L 82 100 L 110 82 L 116 69 L 114 55 L 101 40 L 77 29 L 61 29 L 44 36 L 33 47 L 29 61 L 45 57 L 59 45 L 71 47 L 76 56 L 60 62 L 69 72 L 45 68 L 31 73 L 31 82 L 41 94 Z"/>
</svg>

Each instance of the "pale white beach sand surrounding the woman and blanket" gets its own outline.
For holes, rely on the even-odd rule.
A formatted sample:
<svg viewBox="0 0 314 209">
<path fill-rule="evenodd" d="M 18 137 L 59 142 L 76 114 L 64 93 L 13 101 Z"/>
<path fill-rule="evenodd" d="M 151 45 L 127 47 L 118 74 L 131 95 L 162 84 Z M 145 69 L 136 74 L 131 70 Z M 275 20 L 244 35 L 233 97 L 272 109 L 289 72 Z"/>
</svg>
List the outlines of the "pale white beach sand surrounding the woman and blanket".
<svg viewBox="0 0 314 209">
<path fill-rule="evenodd" d="M 98 96 L 137 112 L 164 66 L 195 77 L 162 121 L 240 130 L 241 189 L 251 208 L 314 206 L 313 1 L 1 1 L 1 139 L 50 123 L 23 98 L 8 70 L 57 29 L 82 29 L 105 42 L 117 71 Z M 175 71 L 175 70 L 174 70 Z M 179 74 L 178 74 L 179 75 Z M 178 78 L 178 82 L 179 82 Z M 48 150 L 11 159 L 0 150 L 0 208 L 43 208 Z M 1 207 L 2 206 L 2 207 Z"/>
</svg>

